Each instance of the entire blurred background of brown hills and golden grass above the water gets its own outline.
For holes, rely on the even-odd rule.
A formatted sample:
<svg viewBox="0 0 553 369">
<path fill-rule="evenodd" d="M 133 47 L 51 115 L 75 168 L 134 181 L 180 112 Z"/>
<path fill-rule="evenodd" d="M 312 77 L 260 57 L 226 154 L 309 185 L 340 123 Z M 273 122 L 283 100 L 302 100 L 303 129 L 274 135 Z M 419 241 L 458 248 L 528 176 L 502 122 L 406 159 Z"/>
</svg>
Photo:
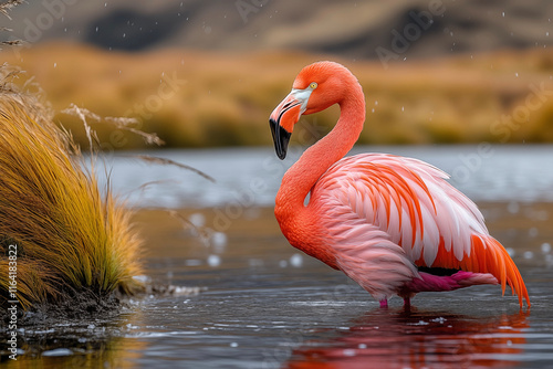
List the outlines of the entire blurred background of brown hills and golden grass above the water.
<svg viewBox="0 0 553 369">
<path fill-rule="evenodd" d="M 51 0 L 10 17 L 3 40 L 24 41 L 1 54 L 25 71 L 15 83 L 40 86 L 56 112 L 134 117 L 127 128 L 167 147 L 270 145 L 270 112 L 323 59 L 364 87 L 361 143 L 553 141 L 549 0 Z M 337 114 L 304 129 L 322 135 Z M 86 146 L 79 119 L 56 119 Z M 108 149 L 145 147 L 94 128 Z"/>
</svg>

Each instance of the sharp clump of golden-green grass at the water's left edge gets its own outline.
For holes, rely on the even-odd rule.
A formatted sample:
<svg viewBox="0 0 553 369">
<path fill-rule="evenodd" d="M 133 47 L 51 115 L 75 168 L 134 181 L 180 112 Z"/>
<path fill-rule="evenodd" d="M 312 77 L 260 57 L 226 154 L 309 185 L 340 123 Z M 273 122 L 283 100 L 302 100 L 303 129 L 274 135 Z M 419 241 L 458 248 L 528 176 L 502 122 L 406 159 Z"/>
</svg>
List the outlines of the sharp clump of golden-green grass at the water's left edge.
<svg viewBox="0 0 553 369">
<path fill-rule="evenodd" d="M 4 72 L 4 68 L 1 70 Z M 1 78 L 0 78 L 1 80 Z M 71 152 L 71 154 L 70 154 Z M 0 88 L 0 306 L 8 302 L 8 247 L 17 244 L 17 297 L 23 308 L 86 293 L 131 292 L 139 239 L 131 213 L 72 138 L 30 95 Z M 94 159 L 91 159 L 94 160 Z"/>
</svg>

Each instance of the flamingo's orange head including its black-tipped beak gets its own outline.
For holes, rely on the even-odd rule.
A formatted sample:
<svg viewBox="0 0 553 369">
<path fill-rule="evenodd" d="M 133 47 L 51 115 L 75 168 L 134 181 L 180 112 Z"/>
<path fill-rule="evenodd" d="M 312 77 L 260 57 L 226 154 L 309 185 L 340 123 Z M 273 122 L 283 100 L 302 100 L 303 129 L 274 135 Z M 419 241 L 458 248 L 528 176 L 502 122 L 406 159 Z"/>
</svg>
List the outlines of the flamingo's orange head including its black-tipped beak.
<svg viewBox="0 0 553 369">
<path fill-rule="evenodd" d="M 288 144 L 302 114 L 312 114 L 341 103 L 345 82 L 356 82 L 342 64 L 317 62 L 305 66 L 295 77 L 292 91 L 269 117 L 274 149 L 280 159 L 286 157 Z"/>
</svg>

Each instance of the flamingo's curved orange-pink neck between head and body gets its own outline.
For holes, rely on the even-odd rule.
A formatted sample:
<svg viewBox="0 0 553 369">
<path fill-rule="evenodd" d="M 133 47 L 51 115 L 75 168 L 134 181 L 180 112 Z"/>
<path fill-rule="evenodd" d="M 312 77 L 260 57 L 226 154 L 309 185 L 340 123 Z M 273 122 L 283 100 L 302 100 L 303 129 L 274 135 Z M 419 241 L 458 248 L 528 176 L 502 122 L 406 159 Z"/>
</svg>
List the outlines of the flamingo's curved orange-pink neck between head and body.
<svg viewBox="0 0 553 369">
<path fill-rule="evenodd" d="M 319 178 L 357 141 L 365 122 L 365 98 L 357 81 L 349 84 L 338 104 L 341 114 L 336 126 L 310 147 L 284 175 L 275 202 L 275 210 L 281 215 L 299 215 Z"/>
</svg>

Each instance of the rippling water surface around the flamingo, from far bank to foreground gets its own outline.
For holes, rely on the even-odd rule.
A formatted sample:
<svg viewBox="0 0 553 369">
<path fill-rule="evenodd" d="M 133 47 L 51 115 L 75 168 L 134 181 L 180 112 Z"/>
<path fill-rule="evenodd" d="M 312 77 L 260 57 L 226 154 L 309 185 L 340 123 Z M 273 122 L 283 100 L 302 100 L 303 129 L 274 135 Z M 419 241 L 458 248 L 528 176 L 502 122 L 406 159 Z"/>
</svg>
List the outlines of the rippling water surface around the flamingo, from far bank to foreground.
<svg viewBox="0 0 553 369">
<path fill-rule="evenodd" d="M 146 274 L 204 289 L 133 301 L 111 318 L 24 327 L 9 367 L 551 367 L 553 148 L 493 148 L 480 164 L 470 156 L 473 147 L 371 150 L 408 154 L 449 172 L 473 165 L 469 180 L 457 169 L 456 186 L 478 201 L 491 233 L 513 254 L 532 308 L 520 312 L 500 287 L 478 286 L 419 294 L 410 310 L 393 298 L 382 309 L 280 234 L 271 204 L 285 167 L 272 150 L 171 151 L 169 158 L 217 182 L 128 158 L 112 160 L 112 179 L 131 203 L 170 207 L 199 228 L 184 228 L 163 209 L 142 209 L 135 218 L 146 239 Z M 132 191 L 160 179 L 171 181 Z"/>
</svg>

